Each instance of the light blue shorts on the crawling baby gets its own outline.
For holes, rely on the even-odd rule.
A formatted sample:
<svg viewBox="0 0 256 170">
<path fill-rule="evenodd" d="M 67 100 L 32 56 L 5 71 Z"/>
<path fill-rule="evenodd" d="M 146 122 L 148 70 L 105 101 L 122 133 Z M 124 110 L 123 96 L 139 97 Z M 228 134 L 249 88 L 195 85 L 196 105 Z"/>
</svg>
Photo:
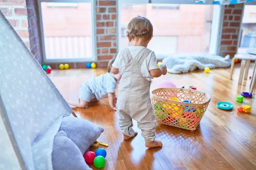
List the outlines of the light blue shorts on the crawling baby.
<svg viewBox="0 0 256 170">
<path fill-rule="evenodd" d="M 80 84 L 79 99 L 84 100 L 86 102 L 97 101 L 96 96 L 93 94 L 92 90 L 87 85 L 87 82 L 83 82 Z"/>
</svg>

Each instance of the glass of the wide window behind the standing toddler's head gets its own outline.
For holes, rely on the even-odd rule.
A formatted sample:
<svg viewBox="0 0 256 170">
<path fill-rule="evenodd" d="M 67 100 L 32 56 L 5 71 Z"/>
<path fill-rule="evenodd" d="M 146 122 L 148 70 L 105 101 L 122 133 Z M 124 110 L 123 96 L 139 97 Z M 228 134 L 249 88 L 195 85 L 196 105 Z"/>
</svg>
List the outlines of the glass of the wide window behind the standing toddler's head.
<svg viewBox="0 0 256 170">
<path fill-rule="evenodd" d="M 126 1 L 127 2 L 127 1 Z M 176 1 L 177 2 L 177 1 Z M 130 3 L 130 8 L 123 8 L 120 4 L 119 31 L 127 27 L 129 21 L 137 15 L 148 18 L 153 27 L 153 38 L 148 48 L 155 52 L 157 58 L 168 57 L 170 54 L 216 54 L 210 50 L 210 44 L 216 46 L 217 38 L 211 40 L 212 29 L 218 32 L 218 24 L 212 25 L 215 17 L 220 17 L 220 12 L 213 15 L 218 5 L 202 4 L 136 4 Z M 220 11 L 220 10 L 218 10 Z M 119 37 L 119 50 L 129 45 L 127 37 Z M 214 40 L 214 41 L 213 41 Z"/>
</svg>

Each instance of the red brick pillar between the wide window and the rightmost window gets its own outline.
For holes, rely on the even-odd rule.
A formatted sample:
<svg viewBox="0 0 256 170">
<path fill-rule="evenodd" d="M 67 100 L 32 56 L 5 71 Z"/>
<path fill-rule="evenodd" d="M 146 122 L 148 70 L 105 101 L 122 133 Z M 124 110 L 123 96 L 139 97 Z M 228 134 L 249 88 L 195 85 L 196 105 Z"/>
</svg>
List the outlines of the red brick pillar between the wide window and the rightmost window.
<svg viewBox="0 0 256 170">
<path fill-rule="evenodd" d="M 219 55 L 234 57 L 239 40 L 244 4 L 225 5 Z"/>
</svg>

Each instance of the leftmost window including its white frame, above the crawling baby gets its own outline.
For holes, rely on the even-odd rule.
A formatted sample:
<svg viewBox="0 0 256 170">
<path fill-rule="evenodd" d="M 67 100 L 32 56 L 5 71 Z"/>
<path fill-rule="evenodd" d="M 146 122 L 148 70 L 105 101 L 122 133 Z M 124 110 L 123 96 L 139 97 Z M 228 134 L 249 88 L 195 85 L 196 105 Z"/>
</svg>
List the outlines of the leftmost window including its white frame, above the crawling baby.
<svg viewBox="0 0 256 170">
<path fill-rule="evenodd" d="M 86 0 L 52 0 L 39 5 L 44 61 L 94 59 L 93 4 Z"/>
</svg>

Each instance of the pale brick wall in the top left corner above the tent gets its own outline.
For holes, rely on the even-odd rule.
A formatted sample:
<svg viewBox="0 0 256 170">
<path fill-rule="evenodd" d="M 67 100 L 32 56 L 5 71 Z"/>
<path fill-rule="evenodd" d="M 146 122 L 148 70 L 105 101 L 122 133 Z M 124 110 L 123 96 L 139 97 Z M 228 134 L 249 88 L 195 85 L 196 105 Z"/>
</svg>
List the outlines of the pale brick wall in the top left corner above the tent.
<svg viewBox="0 0 256 170">
<path fill-rule="evenodd" d="M 13 26 L 17 34 L 30 49 L 32 54 L 41 63 L 41 52 L 35 11 L 35 0 L 3 0 L 0 1 L 0 10 Z M 32 18 L 34 21 L 31 22 Z M 37 41 L 35 40 L 37 39 Z"/>
</svg>

